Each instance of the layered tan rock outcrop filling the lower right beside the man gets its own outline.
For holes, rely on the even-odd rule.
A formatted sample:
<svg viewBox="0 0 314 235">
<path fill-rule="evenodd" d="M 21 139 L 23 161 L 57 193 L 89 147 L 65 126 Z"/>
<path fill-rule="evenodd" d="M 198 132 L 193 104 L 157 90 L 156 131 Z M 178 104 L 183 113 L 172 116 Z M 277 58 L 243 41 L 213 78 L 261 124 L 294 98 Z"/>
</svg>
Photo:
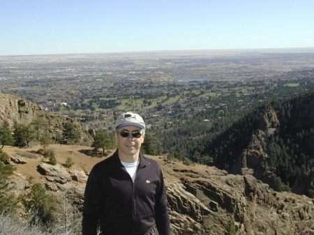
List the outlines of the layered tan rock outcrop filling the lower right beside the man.
<svg viewBox="0 0 314 235">
<path fill-rule="evenodd" d="M 271 190 L 251 175 L 202 172 L 167 181 L 174 234 L 311 234 L 313 199 Z"/>
</svg>

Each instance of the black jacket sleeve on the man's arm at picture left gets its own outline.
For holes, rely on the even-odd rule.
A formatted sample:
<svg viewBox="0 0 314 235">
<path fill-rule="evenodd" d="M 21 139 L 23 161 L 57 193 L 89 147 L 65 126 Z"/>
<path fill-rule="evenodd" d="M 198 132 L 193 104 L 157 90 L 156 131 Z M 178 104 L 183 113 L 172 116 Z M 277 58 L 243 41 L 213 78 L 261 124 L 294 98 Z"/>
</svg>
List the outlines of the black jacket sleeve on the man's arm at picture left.
<svg viewBox="0 0 314 235">
<path fill-rule="evenodd" d="M 91 171 L 84 192 L 82 235 L 96 235 L 98 220 L 101 215 L 102 196 L 96 174 Z"/>
</svg>

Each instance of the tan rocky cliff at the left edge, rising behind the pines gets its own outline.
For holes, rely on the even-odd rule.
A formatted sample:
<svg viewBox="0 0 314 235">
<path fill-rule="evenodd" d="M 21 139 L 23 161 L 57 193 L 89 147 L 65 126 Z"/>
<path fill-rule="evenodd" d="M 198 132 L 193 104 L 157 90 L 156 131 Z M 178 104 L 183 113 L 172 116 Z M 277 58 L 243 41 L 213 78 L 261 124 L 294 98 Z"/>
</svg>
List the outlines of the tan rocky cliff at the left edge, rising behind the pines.
<svg viewBox="0 0 314 235">
<path fill-rule="evenodd" d="M 74 123 L 80 135 L 81 143 L 91 142 L 94 135 L 93 130 L 88 130 L 76 119 L 60 116 L 54 114 L 54 112 L 45 112 L 40 105 L 33 104 L 29 100 L 23 100 L 17 96 L 0 94 L 0 125 L 3 121 L 8 121 L 11 127 L 15 121 L 27 125 L 34 119 L 41 119 L 47 123 L 52 138 L 62 134 L 63 125 L 67 121 Z"/>
</svg>

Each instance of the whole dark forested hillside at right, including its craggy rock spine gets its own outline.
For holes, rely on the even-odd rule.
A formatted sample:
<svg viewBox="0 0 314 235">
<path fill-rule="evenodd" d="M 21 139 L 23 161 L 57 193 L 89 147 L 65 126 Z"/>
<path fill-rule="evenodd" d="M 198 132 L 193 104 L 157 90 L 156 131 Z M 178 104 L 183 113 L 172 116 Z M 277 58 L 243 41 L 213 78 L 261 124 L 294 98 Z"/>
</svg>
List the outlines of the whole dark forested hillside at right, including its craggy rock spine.
<svg viewBox="0 0 314 235">
<path fill-rule="evenodd" d="M 209 134 L 198 141 L 200 144 L 190 144 L 193 146 L 190 158 L 201 161 L 202 156 L 210 156 L 213 159 L 210 165 L 230 174 L 242 174 L 250 169 L 257 179 L 271 187 L 275 188 L 280 179 L 293 192 L 313 197 L 313 90 L 278 100 L 263 100 L 239 119 L 229 116 L 225 123 L 219 126 L 217 121 L 207 130 Z M 181 139 L 177 139 L 177 143 L 180 144 Z M 184 148 L 179 146 L 178 149 Z"/>
</svg>

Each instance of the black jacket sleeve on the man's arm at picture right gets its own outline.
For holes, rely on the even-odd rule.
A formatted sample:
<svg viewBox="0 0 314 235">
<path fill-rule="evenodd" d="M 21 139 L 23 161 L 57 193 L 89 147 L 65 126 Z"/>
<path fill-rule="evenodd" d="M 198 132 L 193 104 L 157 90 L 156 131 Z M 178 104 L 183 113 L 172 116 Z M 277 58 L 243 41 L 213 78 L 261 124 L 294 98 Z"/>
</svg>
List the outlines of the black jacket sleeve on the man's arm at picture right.
<svg viewBox="0 0 314 235">
<path fill-rule="evenodd" d="M 156 192 L 156 227 L 159 235 L 170 235 L 170 218 L 167 206 L 167 190 L 165 188 L 165 181 L 163 173 L 160 170 L 160 185 Z"/>
</svg>

